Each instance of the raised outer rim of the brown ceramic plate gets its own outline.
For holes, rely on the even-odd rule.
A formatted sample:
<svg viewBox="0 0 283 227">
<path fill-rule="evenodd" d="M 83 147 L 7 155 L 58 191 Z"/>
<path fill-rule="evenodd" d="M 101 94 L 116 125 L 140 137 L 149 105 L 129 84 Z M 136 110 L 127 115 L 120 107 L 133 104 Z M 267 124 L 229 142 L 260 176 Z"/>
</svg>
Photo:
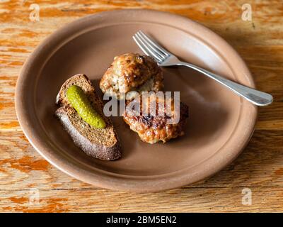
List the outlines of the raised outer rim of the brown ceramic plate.
<svg viewBox="0 0 283 227">
<path fill-rule="evenodd" d="M 128 179 L 125 176 L 115 177 L 111 174 L 104 175 L 104 174 L 101 174 L 99 171 L 96 172 L 96 174 L 94 174 L 93 172 L 88 172 L 86 169 L 82 169 L 81 165 L 78 167 L 74 165 L 74 163 L 67 163 L 66 161 L 60 159 L 60 157 L 58 157 L 56 153 L 52 154 L 52 151 L 50 151 L 50 148 L 47 145 L 44 145 L 42 143 L 42 138 L 40 138 L 39 135 L 35 135 L 33 128 L 29 126 L 30 121 L 28 118 L 28 113 L 25 111 L 25 109 L 23 109 L 25 100 L 23 99 L 23 96 L 21 96 L 21 93 L 23 92 L 23 89 L 25 87 L 24 86 L 25 77 L 28 77 L 28 71 L 30 67 L 33 66 L 33 61 L 36 59 L 37 55 L 40 55 L 41 50 L 45 49 L 51 40 L 56 40 L 59 35 L 62 35 L 68 31 L 71 31 L 74 26 L 78 26 L 80 23 L 86 23 L 86 21 L 93 21 L 98 18 L 119 16 L 120 13 L 122 14 L 128 13 L 127 15 L 129 15 L 129 18 L 137 16 L 137 13 L 142 13 L 144 15 L 148 14 L 151 16 L 156 16 L 156 14 L 158 14 L 158 17 L 161 17 L 161 18 L 171 17 L 172 21 L 180 21 L 182 23 L 188 23 L 190 24 L 190 26 L 195 26 L 196 28 L 199 28 L 200 30 L 205 31 L 205 33 L 207 33 L 207 35 L 209 35 L 209 37 L 212 38 L 212 40 L 214 41 L 216 40 L 215 43 L 218 43 L 219 45 L 223 45 L 225 49 L 228 50 L 229 55 L 231 55 L 231 57 L 233 57 L 234 60 L 236 60 L 237 65 L 241 66 L 242 67 L 241 70 L 245 72 L 246 77 L 248 79 L 248 83 L 249 83 L 248 85 L 250 87 L 255 87 L 253 77 L 250 74 L 250 71 L 248 70 L 246 63 L 243 62 L 242 58 L 238 55 L 236 50 L 234 50 L 231 47 L 231 45 L 229 45 L 223 38 L 221 38 L 219 35 L 217 35 L 213 31 L 209 30 L 209 28 L 202 26 L 200 23 L 197 23 L 195 21 L 190 20 L 189 18 L 179 16 L 173 13 L 155 11 L 155 10 L 149 10 L 149 9 L 123 9 L 123 10 L 115 10 L 115 11 L 103 11 L 100 13 L 83 16 L 82 18 L 79 18 L 71 23 L 68 23 L 65 26 L 62 26 L 62 28 L 59 28 L 57 31 L 49 35 L 47 38 L 45 38 L 45 40 L 43 40 L 40 43 L 40 45 L 37 45 L 37 48 L 35 48 L 35 50 L 30 54 L 28 59 L 25 61 L 21 69 L 21 72 L 19 74 L 18 80 L 17 80 L 16 92 L 15 92 L 16 114 L 17 114 L 20 126 L 23 130 L 23 133 L 28 138 L 28 141 L 30 142 L 30 144 L 33 145 L 33 148 L 35 148 L 35 150 L 37 150 L 37 152 L 40 153 L 40 155 L 42 155 L 42 157 L 44 157 L 45 160 L 50 162 L 52 165 L 57 167 L 59 170 L 62 170 L 62 172 L 65 172 L 68 175 L 71 175 L 71 177 L 79 179 L 83 182 L 87 182 L 89 184 L 93 184 L 97 187 L 116 189 L 116 190 L 122 190 L 122 191 L 131 191 L 131 192 L 159 192 L 159 191 L 163 191 L 166 189 L 175 189 L 178 187 L 183 187 L 184 185 L 187 185 L 187 184 L 199 182 L 200 180 L 210 177 L 214 175 L 216 172 L 219 172 L 219 170 L 223 169 L 224 167 L 229 165 L 233 160 L 236 159 L 236 157 L 241 153 L 243 148 L 246 147 L 248 141 L 253 135 L 255 121 L 257 118 L 257 114 L 258 114 L 258 108 L 256 106 L 253 106 L 252 104 L 249 104 L 248 101 L 243 101 L 243 98 L 241 98 L 241 108 L 242 109 L 246 108 L 250 110 L 250 116 L 248 117 L 248 120 L 250 121 L 246 123 L 246 131 L 245 133 L 243 133 L 246 136 L 242 136 L 242 141 L 241 141 L 241 144 L 238 145 L 238 149 L 232 150 L 231 154 L 229 154 L 228 156 L 226 155 L 226 158 L 220 158 L 219 160 L 217 160 L 216 162 L 217 165 L 210 166 L 209 163 L 207 163 L 206 166 L 202 167 L 203 168 L 202 170 L 200 170 L 199 172 L 195 172 L 195 175 L 193 176 L 179 175 L 178 177 L 174 177 L 175 179 L 172 179 L 171 177 L 167 177 L 167 178 L 164 177 L 161 180 Z M 139 17 L 136 17 L 135 18 L 136 20 L 134 22 L 142 21 L 140 18 L 139 20 L 137 18 Z M 163 22 L 163 24 L 166 24 L 166 23 Z M 209 46 L 209 48 L 211 48 L 211 46 Z M 216 52 L 219 53 L 218 51 Z M 222 60 L 226 60 L 226 59 L 223 58 Z M 238 128 L 238 126 L 236 126 L 235 128 Z M 223 147 L 225 147 L 225 145 Z M 222 150 L 224 149 L 223 147 L 221 148 Z M 209 157 L 210 162 L 215 155 L 216 154 L 212 155 L 212 157 Z M 206 162 L 208 162 L 209 160 L 207 160 Z M 202 163 L 200 165 L 202 165 Z M 170 181 L 168 179 L 170 179 Z"/>
</svg>

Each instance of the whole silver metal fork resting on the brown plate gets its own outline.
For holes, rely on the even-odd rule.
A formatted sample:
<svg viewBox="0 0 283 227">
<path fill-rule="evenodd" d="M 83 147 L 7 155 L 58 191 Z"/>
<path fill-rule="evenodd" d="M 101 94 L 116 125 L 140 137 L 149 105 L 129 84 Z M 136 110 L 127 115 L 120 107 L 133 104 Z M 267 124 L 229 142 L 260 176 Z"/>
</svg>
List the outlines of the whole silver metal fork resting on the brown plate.
<svg viewBox="0 0 283 227">
<path fill-rule="evenodd" d="M 239 96 L 242 96 L 257 106 L 267 106 L 273 101 L 273 97 L 270 94 L 246 87 L 242 84 L 238 84 L 229 79 L 225 79 L 224 77 L 220 77 L 217 74 L 204 70 L 196 65 L 178 60 L 178 57 L 173 55 L 171 52 L 168 52 L 168 50 L 161 47 L 161 45 L 158 45 L 158 43 L 156 43 L 152 38 L 149 38 L 149 36 L 144 34 L 142 31 L 135 33 L 132 38 L 146 55 L 153 57 L 158 65 L 162 67 L 176 65 L 190 67 L 191 69 L 201 72 L 207 77 L 216 80 L 216 82 L 223 84 L 225 87 L 231 89 Z"/>
</svg>

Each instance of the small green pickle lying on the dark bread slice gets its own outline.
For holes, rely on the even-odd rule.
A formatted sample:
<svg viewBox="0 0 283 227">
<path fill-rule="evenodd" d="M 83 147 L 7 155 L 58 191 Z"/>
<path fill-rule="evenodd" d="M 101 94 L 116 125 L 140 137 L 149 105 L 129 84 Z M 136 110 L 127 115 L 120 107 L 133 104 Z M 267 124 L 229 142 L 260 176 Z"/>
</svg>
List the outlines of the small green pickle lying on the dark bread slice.
<svg viewBox="0 0 283 227">
<path fill-rule="evenodd" d="M 66 94 L 71 106 L 73 106 L 79 116 L 83 118 L 83 121 L 86 121 L 86 123 L 95 128 L 105 128 L 105 121 L 96 110 L 93 109 L 91 102 L 88 100 L 88 97 L 81 87 L 72 85 L 69 87 Z"/>
</svg>

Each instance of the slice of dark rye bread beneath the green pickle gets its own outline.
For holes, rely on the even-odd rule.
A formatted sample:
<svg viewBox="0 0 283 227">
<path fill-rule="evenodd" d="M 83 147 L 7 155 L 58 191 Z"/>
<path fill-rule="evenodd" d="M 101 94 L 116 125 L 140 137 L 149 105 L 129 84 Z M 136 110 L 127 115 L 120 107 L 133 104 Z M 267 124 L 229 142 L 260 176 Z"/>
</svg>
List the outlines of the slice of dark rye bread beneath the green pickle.
<svg viewBox="0 0 283 227">
<path fill-rule="evenodd" d="M 105 128 L 95 128 L 83 121 L 74 108 L 71 107 L 66 96 L 67 89 L 77 85 L 88 96 L 94 109 L 103 116 Z M 103 101 L 98 97 L 91 81 L 84 74 L 76 74 L 67 79 L 62 85 L 56 104 L 60 105 L 55 116 L 60 120 L 64 129 L 71 135 L 75 145 L 87 155 L 100 160 L 116 160 L 121 157 L 120 143 L 110 118 L 103 114 Z"/>
</svg>

